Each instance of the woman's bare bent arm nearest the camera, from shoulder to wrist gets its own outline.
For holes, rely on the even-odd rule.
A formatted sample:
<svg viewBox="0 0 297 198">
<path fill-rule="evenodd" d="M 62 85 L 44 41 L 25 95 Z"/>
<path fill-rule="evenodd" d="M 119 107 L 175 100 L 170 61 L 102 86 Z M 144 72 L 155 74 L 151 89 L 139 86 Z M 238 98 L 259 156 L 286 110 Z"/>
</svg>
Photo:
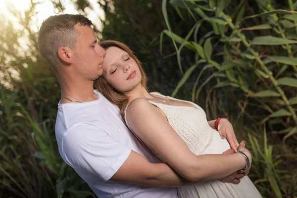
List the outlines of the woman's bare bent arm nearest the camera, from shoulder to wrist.
<svg viewBox="0 0 297 198">
<path fill-rule="evenodd" d="M 133 100 L 127 121 L 139 138 L 154 148 L 168 164 L 189 181 L 224 178 L 246 165 L 240 153 L 195 155 L 174 131 L 159 108 L 147 99 Z M 250 153 L 246 151 L 249 157 Z"/>
</svg>

